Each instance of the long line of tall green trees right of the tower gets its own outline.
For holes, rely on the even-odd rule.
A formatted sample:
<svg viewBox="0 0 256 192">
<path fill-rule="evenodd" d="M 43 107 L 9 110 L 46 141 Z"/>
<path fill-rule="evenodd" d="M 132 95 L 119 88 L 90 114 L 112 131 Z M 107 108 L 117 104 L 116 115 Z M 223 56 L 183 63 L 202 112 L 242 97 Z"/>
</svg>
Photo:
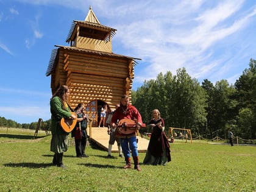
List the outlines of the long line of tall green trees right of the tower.
<svg viewBox="0 0 256 192">
<path fill-rule="evenodd" d="M 193 137 L 227 138 L 227 130 L 244 139 L 256 138 L 256 60 L 230 85 L 219 80 L 213 85 L 204 79 L 202 85 L 191 78 L 185 68 L 176 75 L 167 71 L 155 80 L 146 80 L 132 91 L 135 105 L 148 123 L 152 110 L 158 108 L 165 127 L 191 129 Z M 168 131 L 168 130 L 166 130 Z"/>
</svg>

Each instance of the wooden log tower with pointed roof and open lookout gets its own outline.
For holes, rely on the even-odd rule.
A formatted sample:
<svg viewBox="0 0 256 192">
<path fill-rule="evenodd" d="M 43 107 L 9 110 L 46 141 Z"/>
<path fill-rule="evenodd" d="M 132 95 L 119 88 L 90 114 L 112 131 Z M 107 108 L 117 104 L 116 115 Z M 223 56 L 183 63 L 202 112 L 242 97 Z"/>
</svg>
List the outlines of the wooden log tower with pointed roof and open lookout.
<svg viewBox="0 0 256 192">
<path fill-rule="evenodd" d="M 51 76 L 52 94 L 60 85 L 70 89 L 69 104 L 87 105 L 85 113 L 98 126 L 98 107 L 107 104 L 115 109 L 123 94 L 131 99 L 134 66 L 133 57 L 114 54 L 112 37 L 116 29 L 103 26 L 90 7 L 85 21 L 74 20 L 66 43 L 55 45 L 46 76 Z"/>
</svg>

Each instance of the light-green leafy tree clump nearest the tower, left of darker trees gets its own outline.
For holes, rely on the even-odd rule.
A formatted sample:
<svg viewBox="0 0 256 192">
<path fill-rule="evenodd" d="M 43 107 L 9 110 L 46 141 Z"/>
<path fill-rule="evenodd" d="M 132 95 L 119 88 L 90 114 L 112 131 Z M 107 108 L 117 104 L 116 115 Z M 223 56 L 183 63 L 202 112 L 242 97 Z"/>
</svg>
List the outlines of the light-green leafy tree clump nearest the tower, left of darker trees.
<svg viewBox="0 0 256 192">
<path fill-rule="evenodd" d="M 136 92 L 133 103 L 144 122 L 152 118 L 152 110 L 158 108 L 165 119 L 166 127 L 182 127 L 199 132 L 206 122 L 206 93 L 185 69 L 179 69 L 176 76 L 168 71 L 158 74 L 156 80 L 144 82 Z"/>
</svg>

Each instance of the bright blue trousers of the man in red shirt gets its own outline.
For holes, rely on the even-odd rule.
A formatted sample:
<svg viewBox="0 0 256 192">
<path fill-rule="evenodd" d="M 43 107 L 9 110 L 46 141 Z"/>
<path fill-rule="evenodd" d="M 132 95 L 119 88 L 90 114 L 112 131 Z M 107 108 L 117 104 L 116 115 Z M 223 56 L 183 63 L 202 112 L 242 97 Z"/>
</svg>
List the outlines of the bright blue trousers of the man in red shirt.
<svg viewBox="0 0 256 192">
<path fill-rule="evenodd" d="M 124 153 L 124 157 L 130 157 L 130 151 L 132 151 L 132 157 L 138 156 L 136 136 L 130 138 L 120 138 L 120 143 Z"/>
</svg>

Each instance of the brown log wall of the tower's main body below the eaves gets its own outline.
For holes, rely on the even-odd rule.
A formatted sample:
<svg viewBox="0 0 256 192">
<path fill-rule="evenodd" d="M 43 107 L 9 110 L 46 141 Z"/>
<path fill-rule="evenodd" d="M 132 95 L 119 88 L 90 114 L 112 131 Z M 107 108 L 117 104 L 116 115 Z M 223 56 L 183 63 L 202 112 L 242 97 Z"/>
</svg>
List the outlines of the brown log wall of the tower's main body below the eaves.
<svg viewBox="0 0 256 192">
<path fill-rule="evenodd" d="M 59 61 L 52 73 L 52 93 L 59 85 L 68 85 L 72 108 L 101 100 L 115 109 L 121 95 L 130 96 L 133 77 L 132 59 L 59 48 Z"/>
</svg>

